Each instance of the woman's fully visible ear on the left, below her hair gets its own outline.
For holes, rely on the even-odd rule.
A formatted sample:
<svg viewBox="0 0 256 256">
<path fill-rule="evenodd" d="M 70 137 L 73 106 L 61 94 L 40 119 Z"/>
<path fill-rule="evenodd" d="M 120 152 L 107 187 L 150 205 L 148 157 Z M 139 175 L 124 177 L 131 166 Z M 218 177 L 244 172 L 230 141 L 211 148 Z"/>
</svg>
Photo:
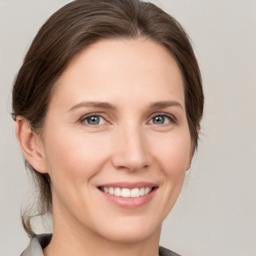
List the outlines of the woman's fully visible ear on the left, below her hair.
<svg viewBox="0 0 256 256">
<path fill-rule="evenodd" d="M 33 168 L 41 173 L 47 173 L 41 139 L 31 129 L 30 122 L 21 115 L 16 117 L 16 137 L 24 157 Z"/>
</svg>

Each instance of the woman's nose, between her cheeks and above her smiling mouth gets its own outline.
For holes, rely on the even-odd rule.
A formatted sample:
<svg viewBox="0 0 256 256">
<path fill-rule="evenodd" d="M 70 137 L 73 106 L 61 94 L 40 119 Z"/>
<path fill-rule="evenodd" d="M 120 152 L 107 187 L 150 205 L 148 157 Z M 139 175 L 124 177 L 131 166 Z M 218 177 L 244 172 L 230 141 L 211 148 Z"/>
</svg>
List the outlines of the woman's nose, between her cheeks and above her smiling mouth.
<svg viewBox="0 0 256 256">
<path fill-rule="evenodd" d="M 119 129 L 113 139 L 112 164 L 118 169 L 137 171 L 150 163 L 146 136 L 140 127 Z"/>
</svg>

